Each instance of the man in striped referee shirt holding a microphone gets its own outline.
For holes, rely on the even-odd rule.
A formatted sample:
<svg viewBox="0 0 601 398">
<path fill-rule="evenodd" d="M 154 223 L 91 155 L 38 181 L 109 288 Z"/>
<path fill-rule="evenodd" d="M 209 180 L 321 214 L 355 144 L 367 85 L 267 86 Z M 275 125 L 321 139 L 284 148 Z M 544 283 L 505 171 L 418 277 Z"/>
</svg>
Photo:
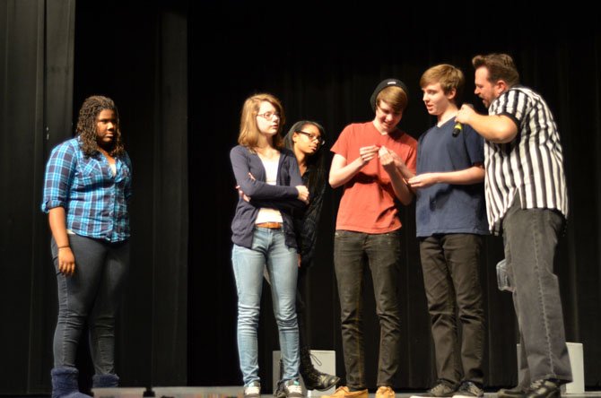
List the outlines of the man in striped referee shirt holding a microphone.
<svg viewBox="0 0 601 398">
<path fill-rule="evenodd" d="M 553 273 L 555 247 L 568 215 L 563 153 L 551 110 L 535 91 L 519 86 L 513 59 L 475 56 L 475 94 L 489 115 L 464 105 L 457 121 L 485 139 L 484 189 L 488 221 L 503 235 L 522 364 L 516 388 L 500 397 L 559 397 L 571 382 L 562 301 Z"/>
</svg>

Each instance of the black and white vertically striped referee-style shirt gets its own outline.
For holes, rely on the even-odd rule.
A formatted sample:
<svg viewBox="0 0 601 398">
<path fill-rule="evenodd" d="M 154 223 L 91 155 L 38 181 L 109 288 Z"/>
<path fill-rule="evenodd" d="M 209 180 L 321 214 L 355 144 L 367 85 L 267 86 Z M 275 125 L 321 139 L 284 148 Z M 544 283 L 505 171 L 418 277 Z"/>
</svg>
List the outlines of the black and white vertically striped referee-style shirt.
<svg viewBox="0 0 601 398">
<path fill-rule="evenodd" d="M 544 99 L 526 87 L 514 86 L 492 102 L 489 115 L 511 117 L 518 125 L 510 143 L 486 141 L 484 147 L 486 210 L 492 232 L 500 232 L 514 197 L 522 209 L 555 209 L 567 217 L 562 143 Z"/>
</svg>

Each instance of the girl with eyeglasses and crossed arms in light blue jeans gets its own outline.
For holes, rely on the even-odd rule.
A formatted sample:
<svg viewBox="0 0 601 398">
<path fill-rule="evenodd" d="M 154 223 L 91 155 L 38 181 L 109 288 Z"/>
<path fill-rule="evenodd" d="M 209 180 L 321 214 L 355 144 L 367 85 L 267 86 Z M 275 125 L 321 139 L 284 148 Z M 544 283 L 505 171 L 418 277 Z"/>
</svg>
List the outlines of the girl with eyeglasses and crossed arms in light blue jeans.
<svg viewBox="0 0 601 398">
<path fill-rule="evenodd" d="M 289 398 L 301 398 L 299 329 L 295 297 L 298 252 L 292 209 L 309 203 L 299 164 L 283 147 L 285 122 L 279 99 L 256 94 L 244 102 L 239 145 L 230 152 L 240 199 L 231 222 L 233 265 L 238 290 L 238 352 L 245 398 L 259 398 L 257 328 L 263 271 L 271 281 L 274 316 L 279 329 L 283 375 Z"/>
</svg>

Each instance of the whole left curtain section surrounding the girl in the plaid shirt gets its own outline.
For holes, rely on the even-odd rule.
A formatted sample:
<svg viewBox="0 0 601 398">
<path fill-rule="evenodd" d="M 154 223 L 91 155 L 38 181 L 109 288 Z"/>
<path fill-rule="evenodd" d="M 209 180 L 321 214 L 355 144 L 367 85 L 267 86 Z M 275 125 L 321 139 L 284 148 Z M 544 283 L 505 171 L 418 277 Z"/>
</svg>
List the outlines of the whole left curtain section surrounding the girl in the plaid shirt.
<svg viewBox="0 0 601 398">
<path fill-rule="evenodd" d="M 0 0 L 0 394 L 50 390 L 56 277 L 39 210 L 49 151 L 83 99 L 115 99 L 134 166 L 132 263 L 118 318 L 123 385 L 187 384 L 185 2 Z M 83 339 L 80 385 L 91 385 Z"/>
</svg>

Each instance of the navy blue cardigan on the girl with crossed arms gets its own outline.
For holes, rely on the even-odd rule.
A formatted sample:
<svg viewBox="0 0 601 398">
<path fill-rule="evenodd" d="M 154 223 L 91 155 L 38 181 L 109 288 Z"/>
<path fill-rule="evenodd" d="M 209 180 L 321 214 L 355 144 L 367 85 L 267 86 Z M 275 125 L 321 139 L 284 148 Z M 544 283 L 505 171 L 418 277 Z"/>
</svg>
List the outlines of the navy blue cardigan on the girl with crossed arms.
<svg viewBox="0 0 601 398">
<path fill-rule="evenodd" d="M 230 160 L 236 184 L 245 195 L 250 197 L 250 202 L 242 198 L 238 200 L 236 213 L 231 221 L 231 241 L 238 246 L 251 248 L 257 213 L 261 207 L 269 207 L 282 213 L 286 246 L 297 248 L 291 211 L 294 208 L 303 208 L 305 203 L 298 199 L 299 192 L 296 186 L 303 185 L 303 182 L 294 153 L 285 148 L 280 150 L 274 186 L 265 182 L 266 170 L 263 162 L 257 153 L 247 147 L 242 145 L 233 147 L 230 151 Z"/>
</svg>

